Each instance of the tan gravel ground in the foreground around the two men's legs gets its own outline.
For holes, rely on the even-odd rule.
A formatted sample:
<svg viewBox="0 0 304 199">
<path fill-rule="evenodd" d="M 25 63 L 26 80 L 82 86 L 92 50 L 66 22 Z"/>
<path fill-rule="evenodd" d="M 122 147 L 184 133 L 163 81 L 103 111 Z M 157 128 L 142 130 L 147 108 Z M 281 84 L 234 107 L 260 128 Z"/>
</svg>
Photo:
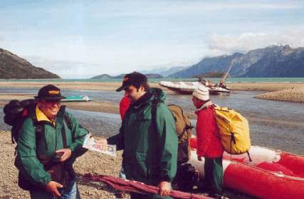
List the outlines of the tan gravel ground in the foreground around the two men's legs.
<svg viewBox="0 0 304 199">
<path fill-rule="evenodd" d="M 15 144 L 11 144 L 11 133 L 0 131 L 0 137 L 0 198 L 30 198 L 28 192 L 19 188 L 17 184 L 18 171 L 14 166 Z M 74 168 L 78 177 L 81 198 L 116 198 L 116 190 L 112 190 L 100 182 L 85 181 L 83 175 L 92 173 L 117 176 L 120 171 L 121 160 L 121 153 L 117 154 L 117 158 L 113 158 L 92 151 L 88 151 L 78 158 L 75 161 Z M 130 197 L 126 195 L 125 198 Z"/>
</svg>

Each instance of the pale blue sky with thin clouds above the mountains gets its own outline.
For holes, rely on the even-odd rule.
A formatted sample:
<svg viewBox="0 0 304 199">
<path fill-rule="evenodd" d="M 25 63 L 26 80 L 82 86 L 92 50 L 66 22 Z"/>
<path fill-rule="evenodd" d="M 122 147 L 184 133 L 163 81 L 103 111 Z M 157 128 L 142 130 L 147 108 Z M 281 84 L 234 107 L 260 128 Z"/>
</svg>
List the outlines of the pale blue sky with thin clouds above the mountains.
<svg viewBox="0 0 304 199">
<path fill-rule="evenodd" d="M 0 48 L 71 79 L 304 47 L 303 36 L 304 1 L 0 1 Z"/>
</svg>

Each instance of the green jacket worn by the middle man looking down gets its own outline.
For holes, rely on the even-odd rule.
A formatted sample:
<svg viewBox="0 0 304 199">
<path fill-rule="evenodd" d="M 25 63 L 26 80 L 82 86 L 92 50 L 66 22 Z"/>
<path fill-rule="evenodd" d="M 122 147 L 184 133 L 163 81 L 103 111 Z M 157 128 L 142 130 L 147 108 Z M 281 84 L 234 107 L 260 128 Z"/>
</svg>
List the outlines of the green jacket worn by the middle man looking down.
<svg viewBox="0 0 304 199">
<path fill-rule="evenodd" d="M 122 165 L 127 179 L 157 185 L 172 181 L 177 171 L 177 134 L 172 113 L 164 104 L 165 95 L 152 88 L 131 104 L 120 128 L 120 134 L 108 139 L 124 149 Z M 152 121 L 152 102 L 157 105 L 156 121 Z M 155 129 L 156 126 L 156 129 Z"/>
</svg>

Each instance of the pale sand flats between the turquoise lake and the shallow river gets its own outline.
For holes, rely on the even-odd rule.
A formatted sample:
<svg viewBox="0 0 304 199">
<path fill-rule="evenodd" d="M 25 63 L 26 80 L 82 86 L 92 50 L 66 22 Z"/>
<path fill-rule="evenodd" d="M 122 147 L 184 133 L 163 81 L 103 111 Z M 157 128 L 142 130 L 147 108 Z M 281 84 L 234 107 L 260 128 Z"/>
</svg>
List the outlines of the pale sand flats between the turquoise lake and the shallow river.
<svg viewBox="0 0 304 199">
<path fill-rule="evenodd" d="M 39 88 L 48 84 L 56 85 L 61 88 L 61 90 L 100 90 L 114 92 L 117 87 L 120 87 L 121 82 L 0 82 L 0 88 L 35 88 L 38 91 Z M 256 98 L 304 103 L 304 82 L 236 82 L 229 83 L 227 86 L 231 88 L 231 95 L 233 95 L 234 91 L 262 91 L 265 93 L 256 96 Z M 157 83 L 150 83 L 150 87 L 161 88 L 167 94 L 175 93 Z M 1 93 L 0 100 L 9 99 L 9 95 L 19 95 L 21 98 L 18 97 L 18 99 L 26 99 L 22 98 L 22 94 Z M 10 99 L 16 99 L 16 96 Z"/>
</svg>

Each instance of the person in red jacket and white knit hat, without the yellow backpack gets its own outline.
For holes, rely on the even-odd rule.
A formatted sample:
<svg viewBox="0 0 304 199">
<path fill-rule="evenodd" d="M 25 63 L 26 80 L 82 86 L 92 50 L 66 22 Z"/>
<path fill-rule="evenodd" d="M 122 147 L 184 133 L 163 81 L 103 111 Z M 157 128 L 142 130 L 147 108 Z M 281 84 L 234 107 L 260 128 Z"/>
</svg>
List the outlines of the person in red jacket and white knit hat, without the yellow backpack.
<svg viewBox="0 0 304 199">
<path fill-rule="evenodd" d="M 192 102 L 196 107 L 196 154 L 201 161 L 205 158 L 204 185 L 211 196 L 221 195 L 223 181 L 222 156 L 224 153 L 221 145 L 219 129 L 214 117 L 214 106 L 209 98 L 209 89 L 204 85 L 199 85 L 192 94 Z"/>
</svg>

